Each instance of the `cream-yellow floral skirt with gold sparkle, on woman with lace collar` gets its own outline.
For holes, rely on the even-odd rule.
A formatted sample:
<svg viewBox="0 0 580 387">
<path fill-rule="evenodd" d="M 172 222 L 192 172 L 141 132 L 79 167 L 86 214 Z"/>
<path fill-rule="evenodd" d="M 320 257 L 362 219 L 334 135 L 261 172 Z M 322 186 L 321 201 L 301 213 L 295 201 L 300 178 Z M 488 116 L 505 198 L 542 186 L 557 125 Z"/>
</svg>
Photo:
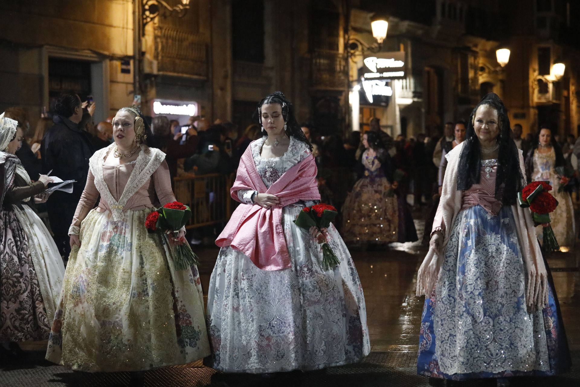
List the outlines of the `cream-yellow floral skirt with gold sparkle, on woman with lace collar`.
<svg viewBox="0 0 580 387">
<path fill-rule="evenodd" d="M 208 356 L 197 267 L 177 271 L 172 248 L 144 223 L 93 209 L 71 251 L 46 359 L 73 370 L 142 371 Z"/>
</svg>

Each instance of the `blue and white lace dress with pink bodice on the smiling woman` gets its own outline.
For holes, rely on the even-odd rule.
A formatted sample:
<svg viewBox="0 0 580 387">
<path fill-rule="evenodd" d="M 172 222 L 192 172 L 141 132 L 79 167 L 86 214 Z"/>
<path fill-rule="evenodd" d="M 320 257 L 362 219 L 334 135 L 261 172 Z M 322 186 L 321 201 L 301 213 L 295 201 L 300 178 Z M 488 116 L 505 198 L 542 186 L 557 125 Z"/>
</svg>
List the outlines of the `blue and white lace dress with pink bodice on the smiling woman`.
<svg viewBox="0 0 580 387">
<path fill-rule="evenodd" d="M 570 365 L 568 346 L 530 212 L 495 198 L 496 160 L 481 161 L 480 183 L 457 191 L 461 147 L 449 154 L 433 223 L 445 234 L 434 287 L 423 281 L 429 255 L 418 275 L 418 294 L 433 289 L 423 308 L 418 373 L 460 380 L 561 372 Z"/>
</svg>

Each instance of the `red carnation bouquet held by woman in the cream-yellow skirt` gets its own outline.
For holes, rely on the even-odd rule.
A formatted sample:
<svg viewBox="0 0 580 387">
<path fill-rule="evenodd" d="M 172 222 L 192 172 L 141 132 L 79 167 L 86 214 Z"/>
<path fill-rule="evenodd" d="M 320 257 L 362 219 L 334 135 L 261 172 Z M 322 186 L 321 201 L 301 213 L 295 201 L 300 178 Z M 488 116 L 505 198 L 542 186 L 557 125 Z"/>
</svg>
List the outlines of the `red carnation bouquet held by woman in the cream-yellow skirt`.
<svg viewBox="0 0 580 387">
<path fill-rule="evenodd" d="M 169 245 L 167 233 L 172 232 L 174 236 L 177 236 L 179 230 L 186 225 L 190 218 L 191 209 L 179 201 L 173 201 L 147 215 L 145 227 L 147 232 L 160 233 L 161 238 L 164 238 L 165 243 Z M 191 250 L 189 243 L 175 244 L 175 268 L 177 270 L 186 270 L 198 264 L 199 259 Z"/>
</svg>

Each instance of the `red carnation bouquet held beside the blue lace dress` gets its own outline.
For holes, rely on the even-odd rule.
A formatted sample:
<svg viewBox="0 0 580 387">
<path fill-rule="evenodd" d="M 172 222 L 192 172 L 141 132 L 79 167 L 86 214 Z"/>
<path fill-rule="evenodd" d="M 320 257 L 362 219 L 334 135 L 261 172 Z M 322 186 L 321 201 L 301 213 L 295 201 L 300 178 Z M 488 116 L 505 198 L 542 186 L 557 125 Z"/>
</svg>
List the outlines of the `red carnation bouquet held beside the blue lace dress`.
<svg viewBox="0 0 580 387">
<path fill-rule="evenodd" d="M 532 182 L 517 194 L 520 207 L 530 207 L 534 222 L 543 226 L 542 248 L 546 252 L 560 249 L 550 226 L 550 212 L 558 206 L 558 201 L 549 192 L 551 190 L 552 186 L 548 182 Z"/>
</svg>

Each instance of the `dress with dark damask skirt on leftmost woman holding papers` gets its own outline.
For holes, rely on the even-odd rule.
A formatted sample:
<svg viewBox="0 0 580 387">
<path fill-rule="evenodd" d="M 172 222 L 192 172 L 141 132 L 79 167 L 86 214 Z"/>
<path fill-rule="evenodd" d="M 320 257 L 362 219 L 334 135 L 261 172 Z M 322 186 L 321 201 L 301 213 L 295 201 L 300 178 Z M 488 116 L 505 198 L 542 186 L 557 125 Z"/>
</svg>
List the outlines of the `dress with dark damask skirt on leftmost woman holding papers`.
<svg viewBox="0 0 580 387">
<path fill-rule="evenodd" d="M 6 120 L 6 119 L 5 119 Z M 64 277 L 63 259 L 30 207 L 45 190 L 31 183 L 20 160 L 0 152 L 0 342 L 46 340 Z"/>
</svg>

